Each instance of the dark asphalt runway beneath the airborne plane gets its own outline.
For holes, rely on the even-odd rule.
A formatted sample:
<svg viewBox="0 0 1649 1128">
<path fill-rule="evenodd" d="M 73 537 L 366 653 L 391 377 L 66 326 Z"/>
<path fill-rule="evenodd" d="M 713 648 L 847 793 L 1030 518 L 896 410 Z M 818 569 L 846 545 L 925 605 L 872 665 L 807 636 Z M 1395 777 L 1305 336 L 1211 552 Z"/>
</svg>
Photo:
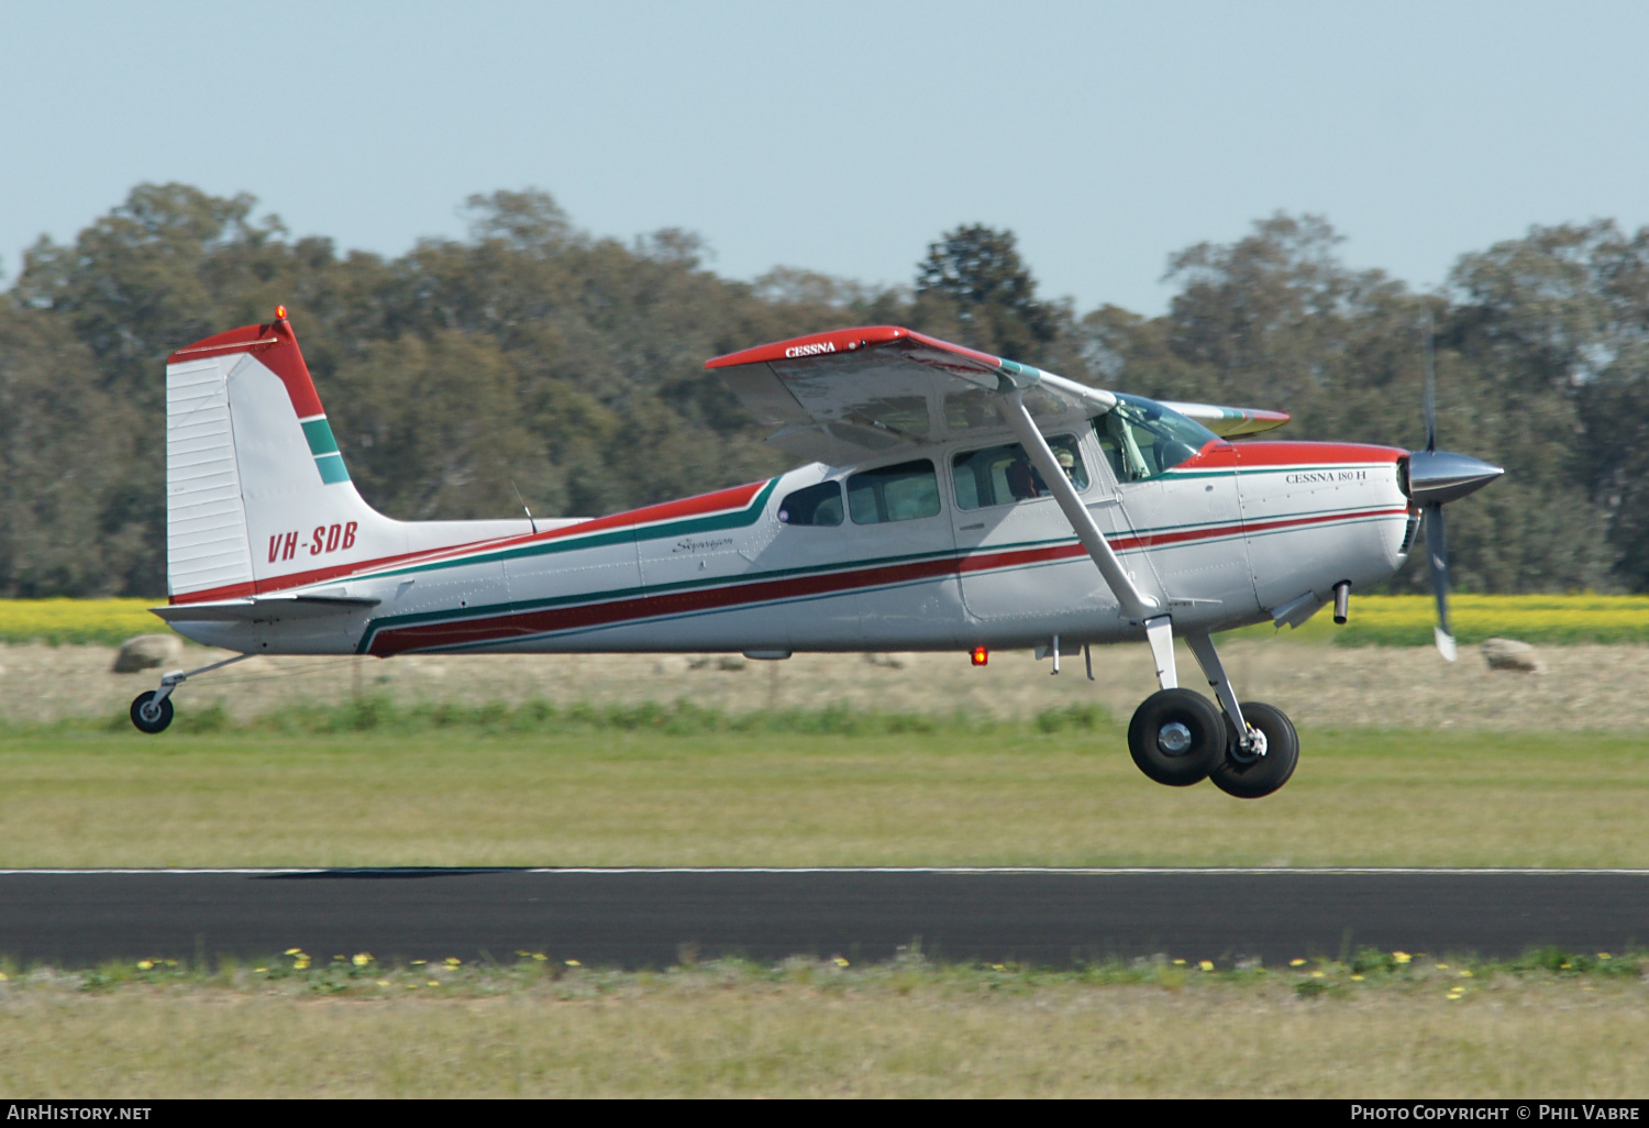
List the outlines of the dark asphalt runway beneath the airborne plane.
<svg viewBox="0 0 1649 1128">
<path fill-rule="evenodd" d="M 1649 871 L 325 869 L 0 871 L 0 953 L 513 961 L 790 955 L 1062 966 L 1265 963 L 1357 947 L 1512 956 L 1649 940 Z"/>
</svg>

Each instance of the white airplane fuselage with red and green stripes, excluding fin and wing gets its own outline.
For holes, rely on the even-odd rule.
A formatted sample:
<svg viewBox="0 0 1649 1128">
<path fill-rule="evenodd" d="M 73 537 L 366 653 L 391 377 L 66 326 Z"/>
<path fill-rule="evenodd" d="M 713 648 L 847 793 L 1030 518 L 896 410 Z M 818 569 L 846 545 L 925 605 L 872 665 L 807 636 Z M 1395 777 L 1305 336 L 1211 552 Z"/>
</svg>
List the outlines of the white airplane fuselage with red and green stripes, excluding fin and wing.
<svg viewBox="0 0 1649 1128">
<path fill-rule="evenodd" d="M 1062 429 L 1045 430 L 1052 439 Z M 1174 633 L 1265 622 L 1281 607 L 1309 613 L 1342 580 L 1360 589 L 1392 576 L 1413 539 L 1403 450 L 1210 442 L 1158 477 L 1120 482 L 1087 421 L 1067 421 L 1064 435 L 1080 460 L 1083 505 L 1135 584 L 1172 615 Z M 1012 435 L 998 442 L 1006 450 Z M 317 566 L 282 584 L 287 592 L 359 607 L 257 622 L 191 622 L 173 607 L 168 618 L 196 642 L 242 653 L 378 656 L 783 656 L 1034 646 L 1054 635 L 1064 650 L 1143 638 L 1054 498 L 989 496 L 988 477 L 970 478 L 970 458 L 989 444 L 973 435 L 848 468 L 813 463 L 538 533 L 526 521 L 475 523 L 473 538 L 458 538 L 467 544 L 345 567 L 325 566 L 348 538 L 343 526 L 336 538 L 330 526 L 272 533 L 277 557 L 292 549 Z M 915 482 L 904 500 L 876 491 L 904 482 L 881 468 L 922 462 L 932 486 Z M 996 475 L 1001 483 L 999 467 Z M 805 523 L 792 500 L 828 498 L 828 483 L 854 486 L 824 515 L 836 523 Z"/>
</svg>

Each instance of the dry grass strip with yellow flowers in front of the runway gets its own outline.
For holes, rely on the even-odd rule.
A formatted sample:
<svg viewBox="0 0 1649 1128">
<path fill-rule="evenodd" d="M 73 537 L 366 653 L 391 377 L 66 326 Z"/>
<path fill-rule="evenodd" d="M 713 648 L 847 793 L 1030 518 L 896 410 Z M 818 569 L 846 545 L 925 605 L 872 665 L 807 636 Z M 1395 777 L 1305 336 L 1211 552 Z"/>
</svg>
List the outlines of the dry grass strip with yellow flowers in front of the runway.
<svg viewBox="0 0 1649 1128">
<path fill-rule="evenodd" d="M 351 953 L 355 955 L 355 953 Z M 1070 971 L 735 960 L 383 966 L 358 953 L 0 983 L 33 1097 L 1535 1097 L 1649 1087 L 1642 961 Z M 547 955 L 547 953 L 538 953 Z M 1219 1047 L 1191 1057 L 1164 1047 Z"/>
</svg>

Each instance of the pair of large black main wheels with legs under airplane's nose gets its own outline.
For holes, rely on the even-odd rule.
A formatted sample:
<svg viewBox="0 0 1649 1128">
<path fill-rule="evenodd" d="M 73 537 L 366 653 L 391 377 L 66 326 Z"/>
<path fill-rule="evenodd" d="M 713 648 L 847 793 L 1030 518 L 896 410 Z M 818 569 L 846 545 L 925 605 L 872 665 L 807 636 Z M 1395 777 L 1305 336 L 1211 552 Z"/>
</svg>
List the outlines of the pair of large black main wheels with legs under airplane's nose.
<svg viewBox="0 0 1649 1128">
<path fill-rule="evenodd" d="M 1260 701 L 1238 704 L 1207 635 L 1187 635 L 1186 642 L 1220 707 L 1179 688 L 1166 615 L 1146 622 L 1146 637 L 1163 688 L 1144 699 L 1128 724 L 1128 752 L 1139 770 L 1169 787 L 1210 778 L 1237 798 L 1260 798 L 1288 783 L 1299 762 L 1299 737 L 1288 716 Z"/>
</svg>

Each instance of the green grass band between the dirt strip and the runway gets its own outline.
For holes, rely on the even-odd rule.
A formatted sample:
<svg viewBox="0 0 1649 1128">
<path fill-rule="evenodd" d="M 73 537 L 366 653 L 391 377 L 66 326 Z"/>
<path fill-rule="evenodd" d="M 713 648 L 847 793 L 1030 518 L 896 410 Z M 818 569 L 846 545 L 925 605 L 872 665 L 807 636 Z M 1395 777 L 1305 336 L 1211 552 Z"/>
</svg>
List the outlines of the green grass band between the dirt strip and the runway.
<svg viewBox="0 0 1649 1128">
<path fill-rule="evenodd" d="M 1085 709 L 117 726 L 0 750 L 0 866 L 1649 866 L 1633 734 L 1306 731 L 1288 787 L 1238 801 L 1149 783 Z"/>
</svg>

